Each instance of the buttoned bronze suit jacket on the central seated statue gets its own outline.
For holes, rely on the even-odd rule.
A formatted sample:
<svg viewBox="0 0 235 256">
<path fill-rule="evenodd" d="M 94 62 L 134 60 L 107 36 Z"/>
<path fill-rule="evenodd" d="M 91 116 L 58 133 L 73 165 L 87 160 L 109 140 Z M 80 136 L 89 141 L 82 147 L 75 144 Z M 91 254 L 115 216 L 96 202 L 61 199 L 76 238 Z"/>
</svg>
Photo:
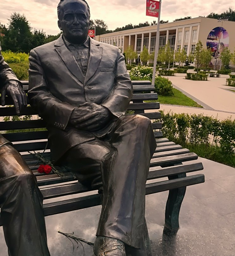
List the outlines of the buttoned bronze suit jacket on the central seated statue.
<svg viewBox="0 0 235 256">
<path fill-rule="evenodd" d="M 47 123 L 53 160 L 71 147 L 95 139 L 92 133 L 69 127 L 76 106 L 93 102 L 108 108 L 116 118 L 128 108 L 133 87 L 124 56 L 115 46 L 90 39 L 85 77 L 62 36 L 33 49 L 29 63 L 28 97 Z"/>
</svg>

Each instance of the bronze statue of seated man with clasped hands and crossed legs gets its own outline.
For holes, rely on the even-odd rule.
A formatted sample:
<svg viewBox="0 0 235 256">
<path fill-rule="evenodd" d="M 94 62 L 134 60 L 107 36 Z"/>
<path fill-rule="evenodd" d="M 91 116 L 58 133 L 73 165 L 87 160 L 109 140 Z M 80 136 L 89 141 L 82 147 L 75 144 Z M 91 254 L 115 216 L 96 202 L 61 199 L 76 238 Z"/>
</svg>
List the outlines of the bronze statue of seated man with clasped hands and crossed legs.
<svg viewBox="0 0 235 256">
<path fill-rule="evenodd" d="M 156 148 L 151 121 L 124 116 L 133 87 L 121 51 L 88 37 L 84 0 L 61 0 L 63 34 L 30 53 L 30 104 L 47 123 L 51 158 L 98 189 L 95 256 L 152 255 L 145 184 Z"/>
</svg>

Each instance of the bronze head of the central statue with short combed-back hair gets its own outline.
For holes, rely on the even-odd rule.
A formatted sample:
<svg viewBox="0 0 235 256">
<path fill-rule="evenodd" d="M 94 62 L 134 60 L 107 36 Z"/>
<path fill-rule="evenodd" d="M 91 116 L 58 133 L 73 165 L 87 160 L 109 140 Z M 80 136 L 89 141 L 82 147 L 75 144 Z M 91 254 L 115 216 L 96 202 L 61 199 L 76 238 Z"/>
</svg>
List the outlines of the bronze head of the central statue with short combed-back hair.
<svg viewBox="0 0 235 256">
<path fill-rule="evenodd" d="M 90 8 L 85 0 L 61 0 L 57 7 L 58 27 L 71 43 L 86 40 L 90 22 Z"/>
</svg>

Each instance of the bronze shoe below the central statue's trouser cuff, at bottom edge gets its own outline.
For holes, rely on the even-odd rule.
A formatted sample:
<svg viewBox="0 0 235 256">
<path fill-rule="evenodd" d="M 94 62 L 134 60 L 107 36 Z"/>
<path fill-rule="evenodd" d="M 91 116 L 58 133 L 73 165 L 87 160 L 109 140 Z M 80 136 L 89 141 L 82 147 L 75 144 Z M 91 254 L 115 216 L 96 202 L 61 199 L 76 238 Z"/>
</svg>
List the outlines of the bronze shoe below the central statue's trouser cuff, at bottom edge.
<svg viewBox="0 0 235 256">
<path fill-rule="evenodd" d="M 124 243 L 105 236 L 97 236 L 94 243 L 95 256 L 126 256 Z"/>
</svg>

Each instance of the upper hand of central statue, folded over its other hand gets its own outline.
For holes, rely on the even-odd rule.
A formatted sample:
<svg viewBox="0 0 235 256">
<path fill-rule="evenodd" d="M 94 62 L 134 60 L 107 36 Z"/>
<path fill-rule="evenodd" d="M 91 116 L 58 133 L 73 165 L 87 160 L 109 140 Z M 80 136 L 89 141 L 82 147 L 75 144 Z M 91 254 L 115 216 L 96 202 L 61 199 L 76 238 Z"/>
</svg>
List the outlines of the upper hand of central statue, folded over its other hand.
<svg viewBox="0 0 235 256">
<path fill-rule="evenodd" d="M 95 103 L 84 103 L 80 107 L 89 106 L 91 111 L 77 120 L 76 128 L 82 131 L 99 131 L 111 120 L 111 112 Z"/>
</svg>

